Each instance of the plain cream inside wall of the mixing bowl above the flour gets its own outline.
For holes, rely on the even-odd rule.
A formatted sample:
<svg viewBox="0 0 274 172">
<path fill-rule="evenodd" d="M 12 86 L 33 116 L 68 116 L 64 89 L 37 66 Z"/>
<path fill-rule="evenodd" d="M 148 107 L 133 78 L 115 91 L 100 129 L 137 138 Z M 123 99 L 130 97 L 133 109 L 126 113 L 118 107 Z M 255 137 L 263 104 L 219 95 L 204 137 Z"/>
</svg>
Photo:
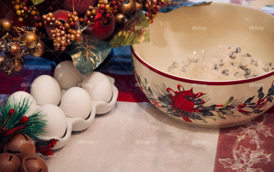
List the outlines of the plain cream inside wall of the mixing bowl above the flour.
<svg viewBox="0 0 274 172">
<path fill-rule="evenodd" d="M 221 3 L 182 7 L 157 14 L 149 27 L 150 42 L 133 48 L 144 61 L 166 73 L 174 61 L 208 56 L 219 45 L 240 46 L 242 53 L 255 60 L 274 62 L 274 16 L 257 9 Z"/>
</svg>

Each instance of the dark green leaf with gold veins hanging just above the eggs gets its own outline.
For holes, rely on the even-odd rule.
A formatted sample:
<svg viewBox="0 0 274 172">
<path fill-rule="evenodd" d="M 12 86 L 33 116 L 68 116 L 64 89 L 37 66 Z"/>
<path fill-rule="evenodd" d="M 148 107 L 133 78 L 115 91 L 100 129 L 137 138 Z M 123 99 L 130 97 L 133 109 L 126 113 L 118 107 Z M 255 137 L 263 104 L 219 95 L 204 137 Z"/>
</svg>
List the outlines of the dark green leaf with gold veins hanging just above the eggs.
<svg viewBox="0 0 274 172">
<path fill-rule="evenodd" d="M 82 75 L 86 75 L 105 60 L 111 45 L 90 35 L 82 34 L 82 38 L 83 41 L 73 41 L 66 50 L 75 67 Z"/>
</svg>

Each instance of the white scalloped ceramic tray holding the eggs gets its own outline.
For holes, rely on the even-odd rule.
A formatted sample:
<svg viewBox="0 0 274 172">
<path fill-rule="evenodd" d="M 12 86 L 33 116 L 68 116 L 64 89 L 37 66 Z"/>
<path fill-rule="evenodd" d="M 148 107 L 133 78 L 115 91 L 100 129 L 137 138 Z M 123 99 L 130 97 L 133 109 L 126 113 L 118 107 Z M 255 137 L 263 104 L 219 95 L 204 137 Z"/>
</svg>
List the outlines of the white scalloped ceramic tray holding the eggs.
<svg viewBox="0 0 274 172">
<path fill-rule="evenodd" d="M 114 78 L 108 75 L 106 76 L 108 77 L 108 79 L 110 80 L 110 83 L 112 84 L 112 98 L 109 103 L 106 103 L 104 101 L 92 101 L 91 112 L 86 120 L 83 118 L 66 117 L 67 130 L 65 135 L 62 138 L 58 136 L 46 136 L 44 138 L 41 138 L 39 141 L 47 141 L 54 138 L 59 140 L 59 142 L 57 142 L 57 144 L 54 146 L 53 149 L 55 150 L 55 149 L 62 148 L 63 146 L 67 144 L 68 140 L 70 139 L 72 131 L 81 131 L 88 128 L 93 122 L 95 114 L 104 114 L 109 112 L 116 104 L 117 97 L 118 97 L 118 89 L 114 86 L 114 82 L 115 82 Z M 62 90 L 62 95 L 63 93 L 65 93 L 65 91 L 66 90 Z"/>
</svg>

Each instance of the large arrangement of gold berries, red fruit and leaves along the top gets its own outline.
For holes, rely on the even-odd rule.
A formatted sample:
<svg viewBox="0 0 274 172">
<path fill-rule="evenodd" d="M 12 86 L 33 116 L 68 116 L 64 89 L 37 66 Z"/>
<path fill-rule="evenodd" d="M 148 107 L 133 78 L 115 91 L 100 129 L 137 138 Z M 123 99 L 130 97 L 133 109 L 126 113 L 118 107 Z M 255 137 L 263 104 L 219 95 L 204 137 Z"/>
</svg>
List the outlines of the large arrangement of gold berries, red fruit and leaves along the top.
<svg viewBox="0 0 274 172">
<path fill-rule="evenodd" d="M 24 56 L 66 51 L 82 75 L 101 64 L 111 48 L 149 42 L 148 24 L 159 11 L 187 0 L 7 0 L 0 20 L 0 70 L 22 70 Z"/>
</svg>

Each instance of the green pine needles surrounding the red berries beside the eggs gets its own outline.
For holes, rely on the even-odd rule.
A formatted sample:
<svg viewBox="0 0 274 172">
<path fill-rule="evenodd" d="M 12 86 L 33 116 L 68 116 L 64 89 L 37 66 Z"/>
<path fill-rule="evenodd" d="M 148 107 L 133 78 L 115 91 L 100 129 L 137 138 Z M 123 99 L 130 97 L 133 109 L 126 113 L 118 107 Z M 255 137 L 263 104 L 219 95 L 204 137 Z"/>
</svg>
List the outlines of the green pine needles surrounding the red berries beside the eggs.
<svg viewBox="0 0 274 172">
<path fill-rule="evenodd" d="M 21 133 L 28 135 L 33 140 L 38 140 L 45 134 L 45 128 L 47 127 L 45 114 L 42 111 L 31 112 L 28 116 L 29 120 L 25 124 L 21 123 L 20 120 L 23 116 L 26 116 L 31 107 L 33 106 L 33 100 L 31 97 L 21 97 L 16 99 L 15 97 L 7 99 L 4 103 L 0 105 L 0 126 L 7 127 L 11 130 L 16 127 L 26 126 Z M 13 113 L 9 117 L 9 110 L 14 109 Z M 5 122 L 5 120 L 9 119 Z"/>
</svg>

